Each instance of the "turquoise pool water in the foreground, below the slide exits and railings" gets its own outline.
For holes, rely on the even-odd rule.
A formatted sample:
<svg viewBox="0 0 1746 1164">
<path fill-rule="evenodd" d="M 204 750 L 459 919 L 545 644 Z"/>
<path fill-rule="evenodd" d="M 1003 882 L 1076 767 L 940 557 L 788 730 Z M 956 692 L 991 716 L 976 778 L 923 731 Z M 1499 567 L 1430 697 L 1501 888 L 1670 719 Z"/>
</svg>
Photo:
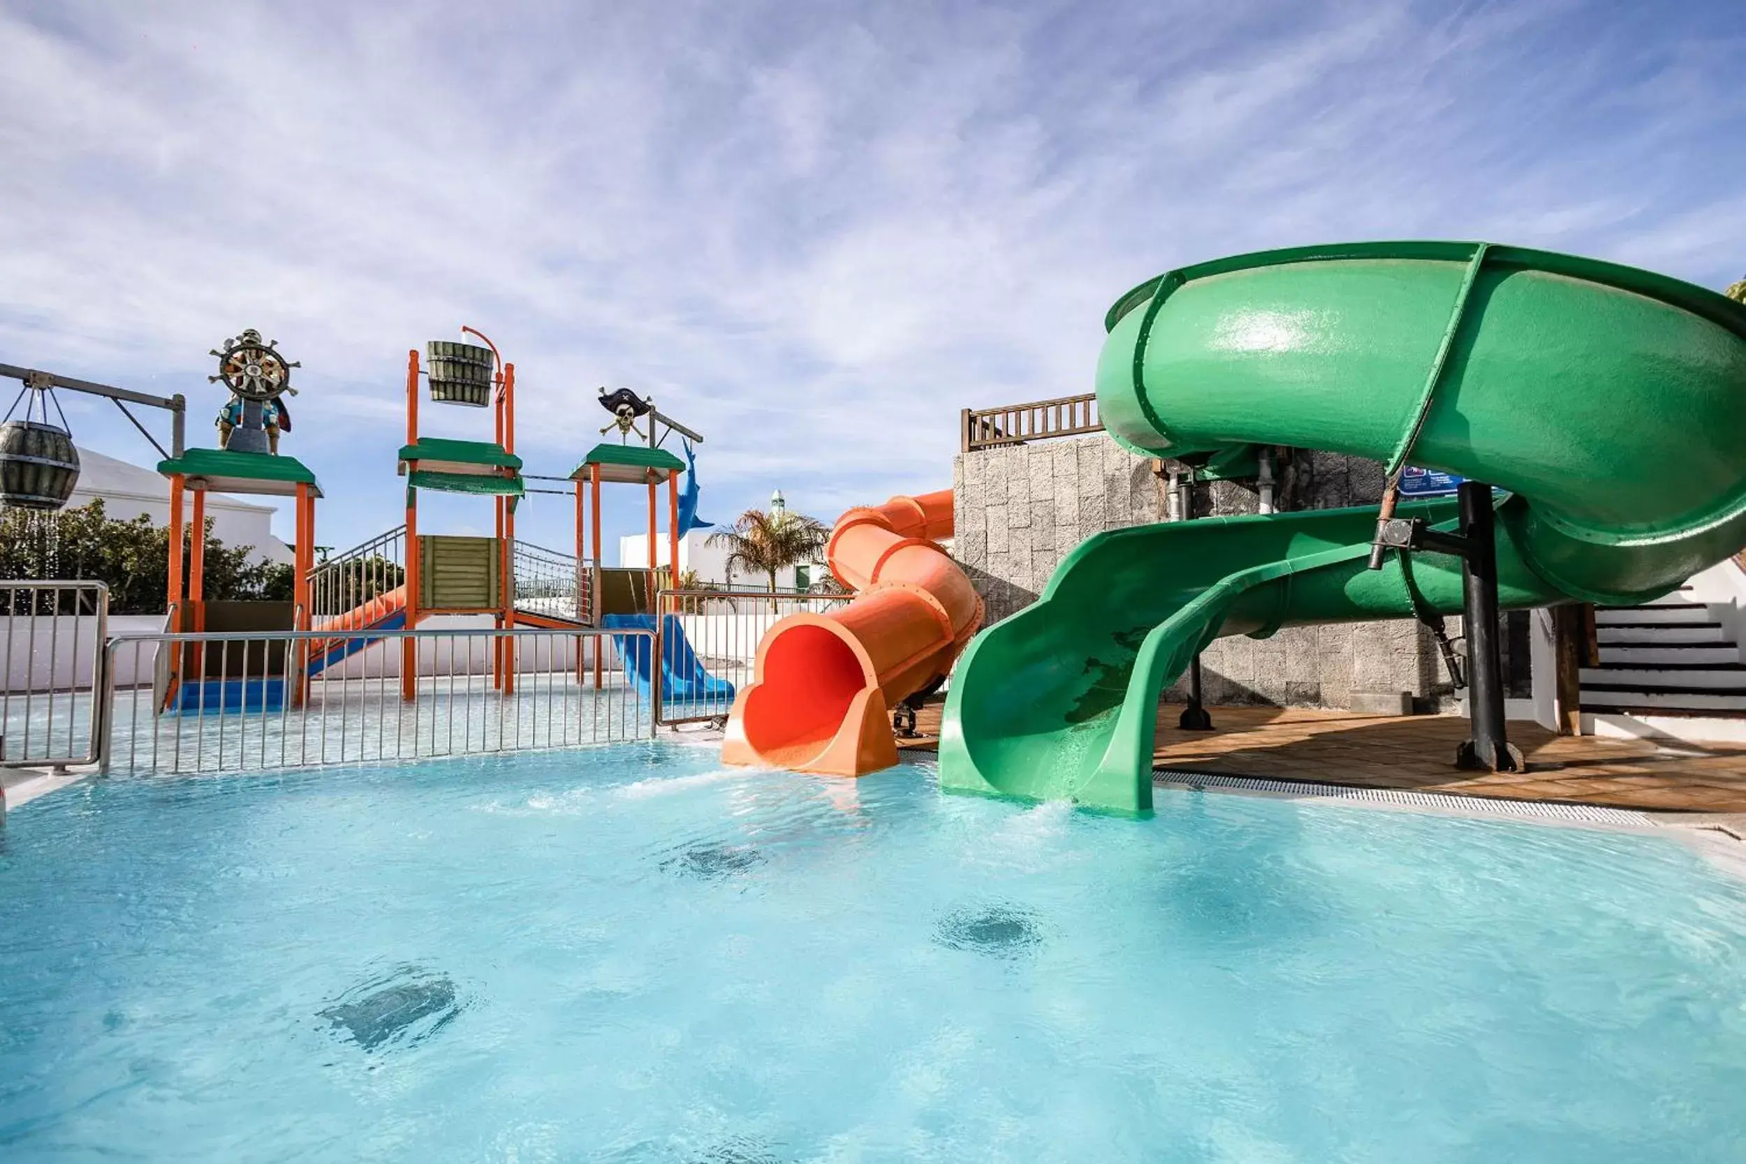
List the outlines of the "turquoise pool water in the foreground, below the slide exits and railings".
<svg viewBox="0 0 1746 1164">
<path fill-rule="evenodd" d="M 1147 822 L 636 743 L 77 785 L 0 838 L 0 1159 L 1741 1161 L 1664 838 Z"/>
</svg>

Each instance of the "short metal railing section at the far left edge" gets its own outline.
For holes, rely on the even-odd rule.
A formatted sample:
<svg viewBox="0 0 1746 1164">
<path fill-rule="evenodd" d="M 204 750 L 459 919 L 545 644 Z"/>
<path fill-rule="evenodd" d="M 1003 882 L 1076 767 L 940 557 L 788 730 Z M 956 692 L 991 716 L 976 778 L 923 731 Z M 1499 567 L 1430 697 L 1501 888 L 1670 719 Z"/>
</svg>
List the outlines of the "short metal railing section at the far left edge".
<svg viewBox="0 0 1746 1164">
<path fill-rule="evenodd" d="M 103 717 L 108 586 L 100 581 L 0 581 L 5 686 L 0 766 L 89 764 Z"/>
</svg>

